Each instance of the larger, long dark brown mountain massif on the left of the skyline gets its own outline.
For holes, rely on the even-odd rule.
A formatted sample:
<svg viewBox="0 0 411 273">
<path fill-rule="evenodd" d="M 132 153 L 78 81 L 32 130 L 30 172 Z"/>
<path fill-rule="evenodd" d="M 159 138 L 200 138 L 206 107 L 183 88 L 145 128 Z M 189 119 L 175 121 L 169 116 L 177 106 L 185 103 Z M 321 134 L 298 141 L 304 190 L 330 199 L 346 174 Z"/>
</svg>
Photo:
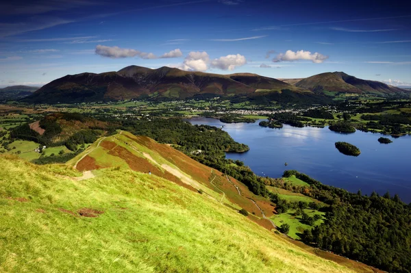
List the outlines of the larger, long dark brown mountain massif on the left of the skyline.
<svg viewBox="0 0 411 273">
<path fill-rule="evenodd" d="M 125 99 L 188 99 L 201 96 L 252 94 L 256 91 L 295 92 L 301 88 L 256 74 L 219 75 L 178 68 L 150 69 L 127 66 L 117 72 L 67 75 L 43 86 L 23 101 L 27 103 L 81 103 Z"/>
</svg>

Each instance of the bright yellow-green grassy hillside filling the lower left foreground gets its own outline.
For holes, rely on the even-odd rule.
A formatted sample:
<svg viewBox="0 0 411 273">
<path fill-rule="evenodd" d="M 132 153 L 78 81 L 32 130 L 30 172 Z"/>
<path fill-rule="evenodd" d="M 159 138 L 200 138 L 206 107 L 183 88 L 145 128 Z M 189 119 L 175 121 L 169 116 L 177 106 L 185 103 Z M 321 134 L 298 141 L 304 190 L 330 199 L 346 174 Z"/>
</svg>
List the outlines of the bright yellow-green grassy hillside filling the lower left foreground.
<svg viewBox="0 0 411 273">
<path fill-rule="evenodd" d="M 0 272 L 351 272 L 155 175 L 0 166 Z"/>
</svg>

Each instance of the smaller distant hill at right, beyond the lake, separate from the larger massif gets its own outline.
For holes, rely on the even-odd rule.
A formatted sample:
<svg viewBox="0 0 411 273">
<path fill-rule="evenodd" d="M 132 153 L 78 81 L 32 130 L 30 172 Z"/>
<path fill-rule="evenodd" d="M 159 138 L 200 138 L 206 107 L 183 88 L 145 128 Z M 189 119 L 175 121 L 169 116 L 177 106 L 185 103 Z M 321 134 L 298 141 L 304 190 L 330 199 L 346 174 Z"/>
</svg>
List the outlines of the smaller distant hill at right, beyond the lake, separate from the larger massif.
<svg viewBox="0 0 411 273">
<path fill-rule="evenodd" d="M 288 80 L 290 82 L 290 80 Z M 375 93 L 392 94 L 406 92 L 395 86 L 388 86 L 380 81 L 358 79 L 343 72 L 327 72 L 301 79 L 294 83 L 299 88 L 306 88 L 313 92 L 347 92 L 347 93 Z"/>
</svg>

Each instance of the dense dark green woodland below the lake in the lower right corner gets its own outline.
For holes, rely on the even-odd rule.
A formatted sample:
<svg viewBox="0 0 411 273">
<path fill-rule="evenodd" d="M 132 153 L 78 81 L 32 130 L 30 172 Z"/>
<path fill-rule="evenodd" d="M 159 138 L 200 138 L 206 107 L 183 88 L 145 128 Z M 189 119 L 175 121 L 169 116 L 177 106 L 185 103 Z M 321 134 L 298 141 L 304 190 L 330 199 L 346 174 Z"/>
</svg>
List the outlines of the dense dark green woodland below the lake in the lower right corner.
<svg viewBox="0 0 411 273">
<path fill-rule="evenodd" d="M 285 186 L 288 190 L 329 205 L 323 207 L 327 220 L 312 232 L 305 231 L 304 242 L 389 272 L 411 272 L 411 204 L 401 202 L 397 194 L 353 194 L 295 170 L 284 172 L 284 177 L 291 175 L 310 187 Z"/>
</svg>

